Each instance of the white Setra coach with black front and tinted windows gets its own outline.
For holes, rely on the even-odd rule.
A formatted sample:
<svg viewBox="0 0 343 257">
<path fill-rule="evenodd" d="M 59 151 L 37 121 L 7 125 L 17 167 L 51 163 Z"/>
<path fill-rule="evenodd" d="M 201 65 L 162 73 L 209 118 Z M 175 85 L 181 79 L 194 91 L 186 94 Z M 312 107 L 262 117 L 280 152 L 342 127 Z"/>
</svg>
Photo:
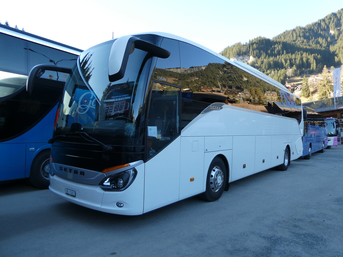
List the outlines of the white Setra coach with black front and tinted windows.
<svg viewBox="0 0 343 257">
<path fill-rule="evenodd" d="M 48 69 L 36 66 L 31 86 Z M 140 215 L 194 195 L 214 201 L 303 153 L 299 98 L 187 39 L 123 36 L 84 51 L 70 73 L 49 188 L 75 204 Z"/>
</svg>

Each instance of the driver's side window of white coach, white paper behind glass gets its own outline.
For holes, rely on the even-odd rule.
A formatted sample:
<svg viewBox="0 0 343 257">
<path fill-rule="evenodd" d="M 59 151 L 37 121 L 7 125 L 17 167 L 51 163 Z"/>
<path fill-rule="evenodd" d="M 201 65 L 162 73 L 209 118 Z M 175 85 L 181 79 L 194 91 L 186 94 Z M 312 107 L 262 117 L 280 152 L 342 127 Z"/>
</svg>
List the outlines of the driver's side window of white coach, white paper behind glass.
<svg viewBox="0 0 343 257">
<path fill-rule="evenodd" d="M 147 158 L 180 133 L 180 88 L 154 82 L 147 122 Z"/>
</svg>

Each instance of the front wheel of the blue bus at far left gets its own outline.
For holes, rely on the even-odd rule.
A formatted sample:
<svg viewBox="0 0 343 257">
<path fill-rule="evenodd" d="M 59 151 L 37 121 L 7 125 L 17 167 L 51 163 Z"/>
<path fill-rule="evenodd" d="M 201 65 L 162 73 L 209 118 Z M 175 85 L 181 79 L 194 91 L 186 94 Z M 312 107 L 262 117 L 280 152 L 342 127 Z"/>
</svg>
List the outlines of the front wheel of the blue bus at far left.
<svg viewBox="0 0 343 257">
<path fill-rule="evenodd" d="M 31 165 L 29 181 L 34 186 L 47 189 L 50 185 L 50 150 L 40 152 Z"/>
</svg>

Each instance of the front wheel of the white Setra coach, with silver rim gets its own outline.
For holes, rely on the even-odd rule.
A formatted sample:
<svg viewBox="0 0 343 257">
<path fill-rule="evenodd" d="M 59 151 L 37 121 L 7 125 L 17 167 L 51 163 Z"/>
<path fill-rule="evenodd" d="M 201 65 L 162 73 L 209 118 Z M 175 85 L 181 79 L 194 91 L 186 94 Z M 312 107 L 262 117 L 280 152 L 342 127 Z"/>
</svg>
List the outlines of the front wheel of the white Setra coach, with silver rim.
<svg viewBox="0 0 343 257">
<path fill-rule="evenodd" d="M 218 200 L 226 184 L 225 163 L 220 157 L 215 157 L 209 167 L 206 178 L 206 191 L 199 197 L 206 201 Z"/>
</svg>

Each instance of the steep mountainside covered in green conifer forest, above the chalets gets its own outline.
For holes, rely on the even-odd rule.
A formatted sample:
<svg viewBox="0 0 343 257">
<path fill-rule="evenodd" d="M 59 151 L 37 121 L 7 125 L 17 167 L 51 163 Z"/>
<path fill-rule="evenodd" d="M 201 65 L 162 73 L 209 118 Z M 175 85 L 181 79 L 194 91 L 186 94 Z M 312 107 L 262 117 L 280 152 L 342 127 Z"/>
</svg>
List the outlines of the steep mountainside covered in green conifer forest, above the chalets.
<svg viewBox="0 0 343 257">
<path fill-rule="evenodd" d="M 244 61 L 282 84 L 287 78 L 319 74 L 324 65 L 343 64 L 343 9 L 272 39 L 258 37 L 226 47 L 221 54 Z"/>
</svg>

